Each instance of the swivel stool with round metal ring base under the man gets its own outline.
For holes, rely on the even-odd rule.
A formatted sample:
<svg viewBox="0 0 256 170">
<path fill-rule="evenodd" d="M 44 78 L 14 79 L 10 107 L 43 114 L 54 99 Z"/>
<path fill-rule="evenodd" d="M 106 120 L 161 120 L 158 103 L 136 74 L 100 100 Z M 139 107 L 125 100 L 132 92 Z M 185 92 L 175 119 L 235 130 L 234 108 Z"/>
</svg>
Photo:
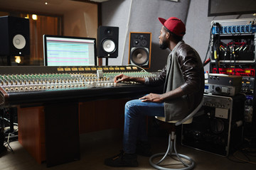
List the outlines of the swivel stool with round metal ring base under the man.
<svg viewBox="0 0 256 170">
<path fill-rule="evenodd" d="M 166 157 L 169 155 L 177 157 L 178 162 L 181 162 L 183 164 L 183 168 L 180 168 L 180 170 L 187 170 L 187 169 L 193 169 L 195 166 L 195 162 L 193 161 L 193 159 L 191 159 L 190 157 L 184 155 L 184 154 L 178 154 L 177 150 L 176 150 L 176 130 L 175 130 L 175 126 L 181 125 L 181 124 L 189 124 L 192 123 L 193 120 L 193 115 L 195 115 L 200 108 L 203 105 L 203 99 L 201 101 L 201 103 L 196 107 L 196 109 L 194 111 L 192 111 L 186 118 L 184 118 L 183 120 L 172 120 L 169 121 L 167 123 L 173 123 L 173 126 L 171 128 L 171 132 L 169 132 L 169 142 L 168 142 L 168 148 L 166 150 L 165 153 L 158 153 L 158 154 L 154 154 L 149 158 L 149 164 L 151 164 L 151 166 L 153 166 L 156 169 L 160 169 L 160 170 L 171 170 L 170 168 L 166 168 L 164 167 L 164 165 L 160 165 L 161 162 L 164 161 L 164 159 L 166 159 Z M 161 120 L 161 121 L 165 121 L 165 119 L 163 117 L 156 117 L 157 119 Z M 175 123 L 175 124 L 174 124 Z M 174 151 L 174 152 L 173 152 Z M 156 157 L 160 157 L 160 156 L 164 156 L 160 159 L 159 162 L 154 163 L 153 159 Z M 188 163 L 184 162 L 183 159 L 186 159 L 188 161 Z"/>
</svg>

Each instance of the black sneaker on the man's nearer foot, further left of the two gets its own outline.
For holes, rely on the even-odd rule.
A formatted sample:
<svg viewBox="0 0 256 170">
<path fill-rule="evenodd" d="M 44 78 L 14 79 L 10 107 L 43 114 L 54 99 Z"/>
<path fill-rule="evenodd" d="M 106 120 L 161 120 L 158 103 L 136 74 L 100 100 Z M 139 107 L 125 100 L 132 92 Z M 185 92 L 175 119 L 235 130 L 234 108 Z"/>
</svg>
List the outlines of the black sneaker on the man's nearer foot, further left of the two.
<svg viewBox="0 0 256 170">
<path fill-rule="evenodd" d="M 113 167 L 137 167 L 137 154 L 126 154 L 124 151 L 114 157 L 105 159 L 105 165 Z"/>
</svg>

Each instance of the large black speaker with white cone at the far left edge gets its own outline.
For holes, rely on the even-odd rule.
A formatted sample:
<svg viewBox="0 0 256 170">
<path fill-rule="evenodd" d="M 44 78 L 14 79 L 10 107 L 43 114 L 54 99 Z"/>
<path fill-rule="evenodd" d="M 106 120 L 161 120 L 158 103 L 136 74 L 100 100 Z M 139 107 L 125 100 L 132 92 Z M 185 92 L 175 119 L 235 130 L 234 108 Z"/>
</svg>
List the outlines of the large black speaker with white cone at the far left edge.
<svg viewBox="0 0 256 170">
<path fill-rule="evenodd" d="M 0 55 L 29 55 L 29 20 L 14 16 L 0 17 Z"/>
</svg>

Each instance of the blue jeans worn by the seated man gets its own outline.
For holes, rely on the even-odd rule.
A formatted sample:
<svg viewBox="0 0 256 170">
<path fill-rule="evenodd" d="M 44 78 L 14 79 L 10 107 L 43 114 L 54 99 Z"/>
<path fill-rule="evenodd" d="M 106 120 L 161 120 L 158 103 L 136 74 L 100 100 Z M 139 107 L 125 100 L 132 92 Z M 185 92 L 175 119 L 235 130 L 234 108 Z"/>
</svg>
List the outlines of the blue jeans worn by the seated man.
<svg viewBox="0 0 256 170">
<path fill-rule="evenodd" d="M 137 140 L 147 141 L 146 115 L 164 117 L 164 103 L 142 102 L 136 99 L 125 104 L 124 152 L 134 154 Z"/>
</svg>

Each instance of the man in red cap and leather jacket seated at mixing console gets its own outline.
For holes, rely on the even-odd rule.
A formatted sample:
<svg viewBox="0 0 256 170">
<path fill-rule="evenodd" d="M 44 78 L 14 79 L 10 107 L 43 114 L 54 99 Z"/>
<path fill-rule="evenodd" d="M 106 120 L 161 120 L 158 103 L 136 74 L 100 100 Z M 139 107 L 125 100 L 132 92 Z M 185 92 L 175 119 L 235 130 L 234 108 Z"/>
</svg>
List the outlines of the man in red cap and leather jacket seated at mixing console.
<svg viewBox="0 0 256 170">
<path fill-rule="evenodd" d="M 123 151 L 105 159 L 108 166 L 138 166 L 137 154 L 150 156 L 146 137 L 146 115 L 165 117 L 166 121 L 181 120 L 203 98 L 203 64 L 196 50 L 182 40 L 186 32 L 184 23 L 175 17 L 168 20 L 159 18 L 159 21 L 163 25 L 159 36 L 160 48 L 171 50 L 167 64 L 159 76 L 139 78 L 120 74 L 114 81 L 137 81 L 151 86 L 164 84 L 164 93 L 149 94 L 126 103 Z"/>
</svg>

